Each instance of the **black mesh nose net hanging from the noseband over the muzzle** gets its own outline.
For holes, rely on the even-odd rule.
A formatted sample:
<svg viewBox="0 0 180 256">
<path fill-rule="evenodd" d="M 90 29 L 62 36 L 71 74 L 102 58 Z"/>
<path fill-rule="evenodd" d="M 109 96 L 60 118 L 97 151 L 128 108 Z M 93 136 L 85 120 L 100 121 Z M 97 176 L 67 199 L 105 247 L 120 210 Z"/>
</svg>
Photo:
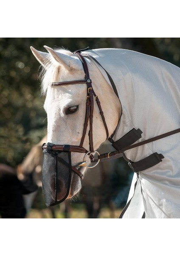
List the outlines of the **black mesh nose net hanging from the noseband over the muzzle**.
<svg viewBox="0 0 180 256">
<path fill-rule="evenodd" d="M 52 143 L 47 144 L 42 158 L 42 189 L 46 206 L 53 206 L 65 201 L 70 191 L 70 152 L 52 150 L 53 145 Z"/>
</svg>

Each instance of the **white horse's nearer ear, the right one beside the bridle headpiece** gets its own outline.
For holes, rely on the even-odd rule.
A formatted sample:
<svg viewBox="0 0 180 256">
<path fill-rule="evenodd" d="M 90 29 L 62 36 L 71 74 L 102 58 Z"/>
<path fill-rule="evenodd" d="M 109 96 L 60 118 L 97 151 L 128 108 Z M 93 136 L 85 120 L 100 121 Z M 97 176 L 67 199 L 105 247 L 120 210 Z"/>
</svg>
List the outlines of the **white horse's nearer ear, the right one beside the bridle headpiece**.
<svg viewBox="0 0 180 256">
<path fill-rule="evenodd" d="M 45 49 L 51 54 L 51 56 L 54 58 L 54 60 L 56 62 L 58 62 L 58 64 L 60 64 L 61 66 L 64 66 L 66 69 L 71 70 L 72 69 L 72 60 L 73 62 L 75 61 L 74 58 L 72 58 L 72 56 L 64 54 L 62 52 L 56 52 L 54 51 L 52 48 L 44 45 Z"/>
</svg>

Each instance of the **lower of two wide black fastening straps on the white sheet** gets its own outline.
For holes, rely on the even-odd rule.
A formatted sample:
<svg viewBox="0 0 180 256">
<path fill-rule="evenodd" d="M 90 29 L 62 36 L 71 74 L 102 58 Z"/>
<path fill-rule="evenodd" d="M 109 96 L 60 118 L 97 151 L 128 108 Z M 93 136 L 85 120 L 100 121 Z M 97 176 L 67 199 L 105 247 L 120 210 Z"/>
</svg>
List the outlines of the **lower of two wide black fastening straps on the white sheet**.
<svg viewBox="0 0 180 256">
<path fill-rule="evenodd" d="M 134 172 L 141 172 L 162 162 L 163 158 L 162 154 L 156 152 L 138 162 L 129 162 L 129 166 Z"/>
</svg>

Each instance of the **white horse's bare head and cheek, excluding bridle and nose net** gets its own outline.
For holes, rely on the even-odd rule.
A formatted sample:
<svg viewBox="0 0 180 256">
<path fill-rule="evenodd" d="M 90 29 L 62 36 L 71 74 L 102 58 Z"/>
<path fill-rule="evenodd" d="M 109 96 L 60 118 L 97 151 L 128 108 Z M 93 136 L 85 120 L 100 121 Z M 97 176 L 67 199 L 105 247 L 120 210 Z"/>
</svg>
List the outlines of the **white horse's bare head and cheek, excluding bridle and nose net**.
<svg viewBox="0 0 180 256">
<path fill-rule="evenodd" d="M 48 118 L 47 142 L 56 145 L 79 145 L 84 129 L 86 115 L 87 86 L 86 84 L 67 84 L 52 86 L 52 83 L 82 80 L 84 70 L 81 60 L 72 52 L 65 49 L 51 49 L 45 46 L 48 52 L 40 52 L 31 47 L 34 56 L 42 65 L 42 92 L 46 94 L 44 108 Z M 93 90 L 101 101 L 101 108 L 107 123 L 109 135 L 113 134 L 121 113 L 120 102 L 112 87 L 106 81 L 96 64 L 86 58 Z M 84 138 L 83 147 L 89 150 L 89 131 Z M 96 150 L 106 140 L 98 106 L 94 104 L 93 111 L 93 145 Z M 79 166 L 84 154 L 72 152 L 71 163 L 84 174 L 86 167 Z M 88 157 L 87 157 L 88 158 Z M 89 164 L 90 160 L 87 159 Z M 81 180 L 75 172 L 71 175 L 71 185 L 68 198 L 73 197 L 81 189 Z"/>
</svg>

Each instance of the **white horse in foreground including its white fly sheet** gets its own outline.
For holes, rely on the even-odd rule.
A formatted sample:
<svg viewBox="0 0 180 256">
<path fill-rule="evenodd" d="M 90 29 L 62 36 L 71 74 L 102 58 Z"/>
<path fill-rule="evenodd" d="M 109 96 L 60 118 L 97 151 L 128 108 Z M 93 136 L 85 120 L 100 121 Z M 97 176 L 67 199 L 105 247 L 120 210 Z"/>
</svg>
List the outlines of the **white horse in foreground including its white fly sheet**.
<svg viewBox="0 0 180 256">
<path fill-rule="evenodd" d="M 68 50 L 53 50 L 47 46 L 45 49 L 48 53 L 31 47 L 43 67 L 42 92 L 46 93 L 47 141 L 57 145 L 79 145 L 86 113 L 87 87 L 81 83 L 63 86 L 51 84 L 84 79 L 82 62 Z M 139 141 L 144 141 L 180 128 L 178 67 L 124 49 L 86 50 L 82 55 L 87 62 L 93 90 L 101 101 L 111 142 L 117 142 L 132 129 L 140 128 L 143 134 Z M 95 104 L 94 149 L 106 140 L 106 136 L 104 123 Z M 89 151 L 88 133 L 83 147 Z M 141 218 L 144 212 L 146 218 L 180 218 L 180 133 L 125 153 L 131 166 L 133 163 L 144 165 L 141 160 L 152 157 L 147 158 L 147 168 L 142 171 L 140 168 L 138 175 L 134 175 L 129 192 L 129 199 L 132 199 L 122 218 Z M 72 165 L 83 162 L 83 157 L 82 153 L 72 153 Z M 158 164 L 155 157 L 158 158 Z M 155 164 L 152 165 L 154 160 Z M 82 166 L 79 170 L 84 174 L 86 167 Z M 72 172 L 68 198 L 80 189 L 80 178 Z"/>
</svg>

